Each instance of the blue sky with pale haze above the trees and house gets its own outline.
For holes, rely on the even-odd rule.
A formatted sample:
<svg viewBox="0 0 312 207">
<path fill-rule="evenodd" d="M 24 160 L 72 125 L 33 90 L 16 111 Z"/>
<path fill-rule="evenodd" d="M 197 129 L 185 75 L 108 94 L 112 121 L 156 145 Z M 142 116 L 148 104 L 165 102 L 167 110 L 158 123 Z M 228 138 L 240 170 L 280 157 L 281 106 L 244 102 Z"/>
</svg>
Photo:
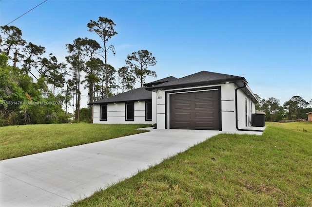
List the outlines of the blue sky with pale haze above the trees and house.
<svg viewBox="0 0 312 207">
<path fill-rule="evenodd" d="M 0 25 L 42 1 L 0 0 Z M 109 41 L 116 56 L 108 56 L 115 69 L 144 49 L 156 57 L 150 69 L 157 79 L 207 70 L 243 76 L 254 93 L 280 104 L 312 99 L 311 0 L 47 0 L 10 25 L 66 62 L 65 45 L 74 39 L 100 43 L 87 31 L 99 16 L 116 23 L 118 35 Z M 87 91 L 82 95 L 86 106 Z"/>
</svg>

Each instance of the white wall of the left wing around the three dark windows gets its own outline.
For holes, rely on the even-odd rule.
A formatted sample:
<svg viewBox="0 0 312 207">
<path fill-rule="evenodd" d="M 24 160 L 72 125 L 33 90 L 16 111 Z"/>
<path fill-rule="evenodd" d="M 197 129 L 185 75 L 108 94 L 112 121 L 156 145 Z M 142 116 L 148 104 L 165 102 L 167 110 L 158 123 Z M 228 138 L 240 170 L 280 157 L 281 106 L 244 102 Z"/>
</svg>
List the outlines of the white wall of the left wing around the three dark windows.
<svg viewBox="0 0 312 207">
<path fill-rule="evenodd" d="M 125 121 L 125 103 L 109 103 L 107 104 L 107 121 L 100 121 L 100 105 L 94 105 L 93 123 L 154 123 L 154 116 L 152 114 L 152 121 L 145 121 L 145 101 L 134 102 L 135 117 L 134 121 Z M 152 104 L 152 110 L 153 104 Z"/>
</svg>

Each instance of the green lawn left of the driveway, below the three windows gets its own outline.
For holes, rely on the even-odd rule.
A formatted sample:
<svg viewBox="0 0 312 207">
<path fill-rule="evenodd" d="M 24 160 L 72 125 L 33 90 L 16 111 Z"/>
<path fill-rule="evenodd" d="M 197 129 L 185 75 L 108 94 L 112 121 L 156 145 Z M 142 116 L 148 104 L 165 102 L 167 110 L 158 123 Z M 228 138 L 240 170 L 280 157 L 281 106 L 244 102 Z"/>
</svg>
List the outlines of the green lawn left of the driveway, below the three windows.
<svg viewBox="0 0 312 207">
<path fill-rule="evenodd" d="M 0 160 L 145 132 L 147 124 L 38 124 L 0 127 Z"/>
</svg>

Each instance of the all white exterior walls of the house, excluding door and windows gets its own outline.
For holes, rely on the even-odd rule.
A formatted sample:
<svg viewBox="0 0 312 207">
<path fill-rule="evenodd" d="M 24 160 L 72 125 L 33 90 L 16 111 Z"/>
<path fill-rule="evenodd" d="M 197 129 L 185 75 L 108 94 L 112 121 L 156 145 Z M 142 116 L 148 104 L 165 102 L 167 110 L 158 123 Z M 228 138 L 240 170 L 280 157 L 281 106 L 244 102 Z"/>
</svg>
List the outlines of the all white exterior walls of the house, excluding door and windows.
<svg viewBox="0 0 312 207">
<path fill-rule="evenodd" d="M 100 106 L 94 105 L 94 118 L 93 123 L 157 123 L 158 129 L 165 129 L 166 127 L 166 111 L 167 111 L 167 128 L 170 124 L 170 93 L 175 90 L 183 89 L 196 89 L 195 91 L 204 90 L 203 88 L 221 86 L 221 123 L 222 131 L 235 131 L 236 130 L 236 115 L 235 115 L 235 88 L 237 86 L 233 83 L 200 86 L 200 87 L 187 87 L 171 90 L 160 90 L 152 93 L 152 121 L 145 121 L 145 101 L 135 102 L 135 119 L 134 121 L 125 121 L 125 103 L 108 104 L 107 105 L 107 121 L 99 121 L 100 119 Z M 198 89 L 198 90 L 197 90 Z M 193 92 L 193 91 L 192 91 Z M 166 103 L 167 98 L 167 103 Z M 246 127 L 245 119 L 245 100 L 247 99 L 247 126 L 251 126 L 252 113 L 255 111 L 255 104 L 251 99 L 241 90 L 237 90 L 237 123 L 238 128 Z M 167 110 L 166 110 L 167 106 Z"/>
</svg>

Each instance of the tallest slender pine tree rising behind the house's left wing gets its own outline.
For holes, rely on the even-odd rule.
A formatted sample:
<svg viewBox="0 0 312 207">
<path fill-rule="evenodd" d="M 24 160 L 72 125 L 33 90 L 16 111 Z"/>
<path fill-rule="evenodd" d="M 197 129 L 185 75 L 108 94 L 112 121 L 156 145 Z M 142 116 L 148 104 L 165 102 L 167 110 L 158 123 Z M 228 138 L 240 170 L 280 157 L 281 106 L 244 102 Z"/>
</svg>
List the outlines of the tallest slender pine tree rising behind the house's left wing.
<svg viewBox="0 0 312 207">
<path fill-rule="evenodd" d="M 90 22 L 87 24 L 87 27 L 89 28 L 89 32 L 95 32 L 100 39 L 103 42 L 103 49 L 104 52 L 104 60 L 105 60 L 105 94 L 106 97 L 108 97 L 108 74 L 110 73 L 108 65 L 107 65 L 107 52 L 108 50 L 111 50 L 113 54 L 115 55 L 115 48 L 113 45 L 107 46 L 107 41 L 112 38 L 112 36 L 117 35 L 117 32 L 115 32 L 114 27 L 116 24 L 113 22 L 113 20 L 106 18 L 106 17 L 98 17 L 98 21 L 90 20 Z"/>
</svg>

